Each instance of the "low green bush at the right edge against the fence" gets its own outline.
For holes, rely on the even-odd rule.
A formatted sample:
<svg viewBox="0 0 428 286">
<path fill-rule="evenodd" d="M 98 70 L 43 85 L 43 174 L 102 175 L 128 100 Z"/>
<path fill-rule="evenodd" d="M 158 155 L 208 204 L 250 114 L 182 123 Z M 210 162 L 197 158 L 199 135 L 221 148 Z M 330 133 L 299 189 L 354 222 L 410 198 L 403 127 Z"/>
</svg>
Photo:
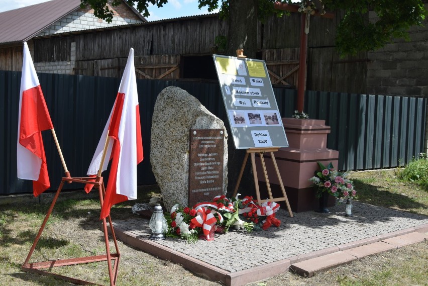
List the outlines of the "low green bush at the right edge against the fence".
<svg viewBox="0 0 428 286">
<path fill-rule="evenodd" d="M 398 178 L 411 181 L 428 189 L 428 160 L 415 159 L 399 170 Z"/>
</svg>

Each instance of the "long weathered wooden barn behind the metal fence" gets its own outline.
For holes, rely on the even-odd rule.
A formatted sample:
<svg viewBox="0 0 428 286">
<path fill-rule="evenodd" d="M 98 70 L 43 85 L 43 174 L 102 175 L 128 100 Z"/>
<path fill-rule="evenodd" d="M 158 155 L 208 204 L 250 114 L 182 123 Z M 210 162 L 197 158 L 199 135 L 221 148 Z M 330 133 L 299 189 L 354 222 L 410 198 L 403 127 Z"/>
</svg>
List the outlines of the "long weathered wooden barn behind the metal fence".
<svg viewBox="0 0 428 286">
<path fill-rule="evenodd" d="M 428 94 L 423 72 L 428 60 L 427 28 L 412 27 L 410 43 L 397 39 L 378 51 L 340 58 L 334 36 L 342 17 L 340 12 L 334 19 L 311 17 L 306 89 L 418 97 Z M 370 17 L 375 18 L 374 13 Z M 39 72 L 121 77 L 133 47 L 139 78 L 217 80 L 211 55 L 222 54 L 215 39 L 227 37 L 227 33 L 227 22 L 208 14 L 39 34 L 32 38 L 31 46 Z M 258 24 L 257 35 L 257 58 L 266 61 L 272 83 L 297 86 L 300 14 L 271 17 Z M 17 64 L 2 64 L 20 63 L 19 54 L 4 51 L 0 45 L 0 70 L 19 70 Z"/>
</svg>

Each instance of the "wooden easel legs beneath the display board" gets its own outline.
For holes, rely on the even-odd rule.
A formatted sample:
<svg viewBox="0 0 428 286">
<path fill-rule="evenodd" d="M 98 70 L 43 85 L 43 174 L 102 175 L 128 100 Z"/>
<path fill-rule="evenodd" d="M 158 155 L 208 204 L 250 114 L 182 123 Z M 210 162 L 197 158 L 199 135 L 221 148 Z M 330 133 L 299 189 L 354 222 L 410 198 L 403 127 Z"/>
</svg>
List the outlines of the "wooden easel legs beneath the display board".
<svg viewBox="0 0 428 286">
<path fill-rule="evenodd" d="M 245 157 L 244 157 L 244 162 L 242 163 L 241 171 L 239 172 L 239 177 L 238 177 L 238 181 L 237 181 L 236 186 L 235 186 L 233 197 L 235 197 L 236 194 L 238 193 L 239 183 L 241 182 L 242 175 L 243 175 L 244 169 L 245 169 L 245 165 L 247 164 L 248 154 L 251 154 L 251 163 L 253 165 L 253 175 L 254 175 L 254 184 L 256 186 L 257 201 L 260 203 L 285 201 L 285 204 L 287 205 L 288 213 L 290 214 L 290 217 L 292 218 L 293 213 L 291 212 L 290 204 L 288 203 L 287 194 L 285 193 L 284 184 L 283 184 L 282 179 L 281 179 L 281 174 L 279 173 L 278 165 L 276 164 L 276 160 L 275 160 L 275 155 L 273 154 L 273 152 L 277 152 L 278 150 L 279 150 L 279 147 L 263 147 L 263 148 L 249 148 L 249 149 L 247 149 L 247 153 L 245 154 Z M 263 153 L 265 153 L 265 152 L 270 152 L 272 162 L 273 162 L 273 165 L 275 167 L 276 176 L 278 177 L 279 185 L 281 186 L 282 195 L 283 195 L 282 198 L 275 198 L 274 199 L 272 196 L 272 190 L 270 188 L 269 178 L 268 178 L 268 174 L 267 174 L 267 170 L 266 170 L 265 159 L 263 157 Z M 269 195 L 269 199 L 267 199 L 267 200 L 260 200 L 259 181 L 257 179 L 257 169 L 256 169 L 256 160 L 255 160 L 255 154 L 256 153 L 259 154 L 260 161 L 262 162 L 263 173 L 265 175 L 266 186 L 267 186 L 268 195 Z"/>
</svg>

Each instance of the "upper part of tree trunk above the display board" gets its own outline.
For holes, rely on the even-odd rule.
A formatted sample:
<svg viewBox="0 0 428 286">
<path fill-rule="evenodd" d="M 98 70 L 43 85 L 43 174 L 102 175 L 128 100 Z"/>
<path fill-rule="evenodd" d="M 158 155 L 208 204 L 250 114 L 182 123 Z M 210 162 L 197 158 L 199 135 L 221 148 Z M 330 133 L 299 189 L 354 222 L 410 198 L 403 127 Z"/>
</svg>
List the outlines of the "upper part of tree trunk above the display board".
<svg viewBox="0 0 428 286">
<path fill-rule="evenodd" d="M 243 49 L 248 58 L 256 58 L 257 0 L 230 0 L 229 3 L 226 54 L 236 56 L 236 50 Z"/>
</svg>

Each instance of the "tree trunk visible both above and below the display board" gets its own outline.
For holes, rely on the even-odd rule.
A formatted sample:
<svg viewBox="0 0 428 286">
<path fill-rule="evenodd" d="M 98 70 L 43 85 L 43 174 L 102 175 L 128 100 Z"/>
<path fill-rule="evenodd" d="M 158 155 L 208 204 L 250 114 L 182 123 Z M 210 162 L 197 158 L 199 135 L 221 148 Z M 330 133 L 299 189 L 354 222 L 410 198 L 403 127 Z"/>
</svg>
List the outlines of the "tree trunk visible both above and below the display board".
<svg viewBox="0 0 428 286">
<path fill-rule="evenodd" d="M 257 0 L 230 0 L 229 1 L 229 32 L 226 55 L 236 56 L 236 50 L 243 49 L 247 58 L 256 58 L 257 52 Z M 232 142 L 232 132 L 227 126 L 228 142 L 228 195 L 233 194 L 239 171 L 246 154 L 246 150 L 235 149 Z M 249 158 L 250 159 L 250 158 Z M 255 194 L 253 170 L 251 160 L 247 161 L 238 193 L 241 199 L 246 195 Z"/>
</svg>

